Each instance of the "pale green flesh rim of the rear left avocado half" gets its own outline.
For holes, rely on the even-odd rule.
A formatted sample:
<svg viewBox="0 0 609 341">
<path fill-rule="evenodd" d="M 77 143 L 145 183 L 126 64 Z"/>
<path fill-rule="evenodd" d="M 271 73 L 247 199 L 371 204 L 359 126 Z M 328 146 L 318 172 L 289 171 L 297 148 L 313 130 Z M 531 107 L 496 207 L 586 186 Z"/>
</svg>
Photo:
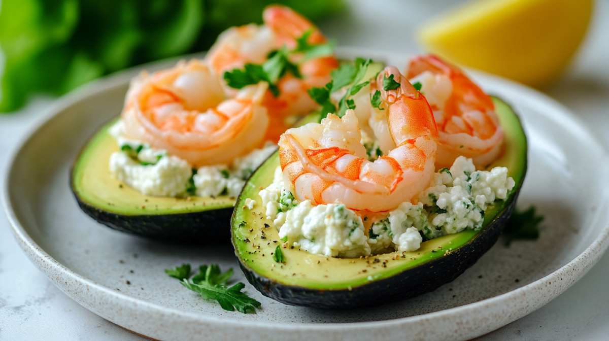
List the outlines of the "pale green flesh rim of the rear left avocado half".
<svg viewBox="0 0 609 341">
<path fill-rule="evenodd" d="M 151 197 L 138 192 L 110 175 L 110 155 L 119 151 L 118 144 L 104 125 L 86 144 L 74 164 L 72 186 L 80 200 L 105 211 L 137 216 L 141 214 L 179 214 L 233 207 L 235 198 L 219 197 Z"/>
</svg>

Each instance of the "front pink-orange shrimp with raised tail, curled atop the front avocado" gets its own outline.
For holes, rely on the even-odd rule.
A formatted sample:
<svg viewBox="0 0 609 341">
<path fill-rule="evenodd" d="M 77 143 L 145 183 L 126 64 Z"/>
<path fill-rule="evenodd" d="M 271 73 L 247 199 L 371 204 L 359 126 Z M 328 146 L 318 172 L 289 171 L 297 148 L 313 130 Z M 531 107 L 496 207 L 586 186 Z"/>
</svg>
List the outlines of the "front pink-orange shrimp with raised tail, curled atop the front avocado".
<svg viewBox="0 0 609 341">
<path fill-rule="evenodd" d="M 391 75 L 400 86 L 385 91 L 382 80 Z M 341 202 L 365 214 L 394 209 L 429 186 L 438 130 L 427 100 L 395 66 L 371 83 L 371 91 L 381 92 L 379 114 L 387 116 L 395 149 L 368 161 L 353 110 L 287 130 L 279 141 L 281 169 L 298 200 Z"/>
</svg>

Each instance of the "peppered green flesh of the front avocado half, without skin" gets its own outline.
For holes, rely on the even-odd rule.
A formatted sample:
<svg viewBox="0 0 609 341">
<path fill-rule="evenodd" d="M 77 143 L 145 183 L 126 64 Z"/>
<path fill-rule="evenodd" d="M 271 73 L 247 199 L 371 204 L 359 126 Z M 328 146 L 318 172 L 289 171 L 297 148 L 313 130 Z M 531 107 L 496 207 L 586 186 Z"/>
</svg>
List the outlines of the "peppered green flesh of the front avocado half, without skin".
<svg viewBox="0 0 609 341">
<path fill-rule="evenodd" d="M 264 289 L 261 289 L 262 284 L 261 286 L 253 284 L 263 294 L 284 303 L 315 306 L 311 301 L 309 301 L 311 304 L 301 304 L 303 300 L 295 299 L 292 301 L 292 298 L 286 298 L 285 296 L 273 297 L 274 294 L 269 294 L 269 286 L 287 286 L 291 288 L 288 296 L 292 295 L 292 297 L 294 288 L 297 290 L 298 288 L 315 289 L 326 294 L 333 290 L 353 290 L 381 279 L 391 278 L 406 270 L 415 269 L 419 265 L 431 264 L 429 262 L 433 259 L 442 257 L 448 259 L 451 253 L 456 253 L 456 250 L 460 247 L 471 243 L 476 239 L 476 236 L 493 224 L 503 225 L 507 216 L 511 214 L 526 174 L 527 141 L 518 116 L 513 113 L 509 105 L 495 97 L 493 101 L 496 105 L 496 113 L 505 130 L 504 152 L 501 158 L 488 166 L 488 169 L 496 166 L 507 167 L 508 175 L 514 179 L 516 186 L 510 191 L 505 201 L 497 201 L 485 211 L 484 225 L 480 230 L 465 230 L 431 239 L 421 243 L 421 248 L 414 252 L 395 251 L 360 259 L 327 258 L 326 256 L 311 254 L 305 250 L 298 250 L 298 248 L 281 248 L 285 264 L 275 262 L 272 253 L 276 246 L 283 244 L 283 242 L 280 241 L 278 231 L 272 221 L 266 219 L 265 209 L 262 207 L 262 199 L 258 192 L 260 189 L 269 186 L 273 181 L 274 171 L 280 165 L 279 153 L 276 152 L 248 180 L 237 200 L 236 209 L 233 213 L 231 223 L 232 241 L 236 255 L 241 261 L 241 267 L 250 282 L 264 282 Z M 256 205 L 251 210 L 244 208 L 245 199 L 248 198 L 256 200 Z M 499 236 L 501 228 L 502 226 L 497 231 L 496 237 Z M 492 244 L 496 241 L 496 237 L 491 241 Z M 491 245 L 488 245 L 485 250 Z M 477 258 L 471 264 L 476 260 Z M 466 265 L 466 267 L 471 264 Z M 466 267 L 457 275 L 463 272 Z M 443 271 L 436 269 L 431 271 Z M 454 277 L 456 275 L 444 283 L 452 281 Z M 308 298 L 305 298 L 306 300 Z"/>
</svg>

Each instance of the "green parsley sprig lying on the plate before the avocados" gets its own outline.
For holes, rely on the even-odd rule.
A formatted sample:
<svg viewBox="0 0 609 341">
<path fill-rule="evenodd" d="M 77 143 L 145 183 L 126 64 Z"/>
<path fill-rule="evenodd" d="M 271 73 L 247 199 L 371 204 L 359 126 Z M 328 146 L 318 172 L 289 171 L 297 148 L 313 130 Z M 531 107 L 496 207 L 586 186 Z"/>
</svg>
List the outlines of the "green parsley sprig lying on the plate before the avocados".
<svg viewBox="0 0 609 341">
<path fill-rule="evenodd" d="M 198 292 L 205 300 L 218 301 L 224 310 L 237 309 L 237 311 L 247 314 L 247 312 L 255 312 L 256 308 L 261 306 L 260 302 L 241 292 L 245 284 L 239 282 L 231 287 L 226 286 L 233 276 L 232 268 L 221 272 L 217 264 L 201 265 L 199 273 L 192 280 L 189 280 L 191 277 L 190 264 L 182 264 L 175 269 L 167 269 L 165 272 L 169 276 L 180 279 L 183 286 Z"/>
</svg>

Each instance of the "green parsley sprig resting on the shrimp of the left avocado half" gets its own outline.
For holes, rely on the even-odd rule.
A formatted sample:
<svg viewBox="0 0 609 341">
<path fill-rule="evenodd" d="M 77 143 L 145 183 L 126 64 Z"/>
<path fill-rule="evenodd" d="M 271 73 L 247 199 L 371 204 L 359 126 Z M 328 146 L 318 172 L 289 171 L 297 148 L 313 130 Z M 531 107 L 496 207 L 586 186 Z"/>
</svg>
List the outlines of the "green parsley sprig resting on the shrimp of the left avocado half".
<svg viewBox="0 0 609 341">
<path fill-rule="evenodd" d="M 247 85 L 258 84 L 259 82 L 269 83 L 269 90 L 273 96 L 279 96 L 279 88 L 277 83 L 287 73 L 291 73 L 294 77 L 302 78 L 298 65 L 290 61 L 290 57 L 294 54 L 302 54 L 302 62 L 311 58 L 324 57 L 334 53 L 333 41 L 326 44 L 309 44 L 311 30 L 307 30 L 300 38 L 297 38 L 297 46 L 293 50 L 288 50 L 284 45 L 278 50 L 271 51 L 266 62 L 259 64 L 247 63 L 242 69 L 233 69 L 232 71 L 224 72 L 224 80 L 227 85 L 234 89 L 241 89 Z"/>
</svg>

